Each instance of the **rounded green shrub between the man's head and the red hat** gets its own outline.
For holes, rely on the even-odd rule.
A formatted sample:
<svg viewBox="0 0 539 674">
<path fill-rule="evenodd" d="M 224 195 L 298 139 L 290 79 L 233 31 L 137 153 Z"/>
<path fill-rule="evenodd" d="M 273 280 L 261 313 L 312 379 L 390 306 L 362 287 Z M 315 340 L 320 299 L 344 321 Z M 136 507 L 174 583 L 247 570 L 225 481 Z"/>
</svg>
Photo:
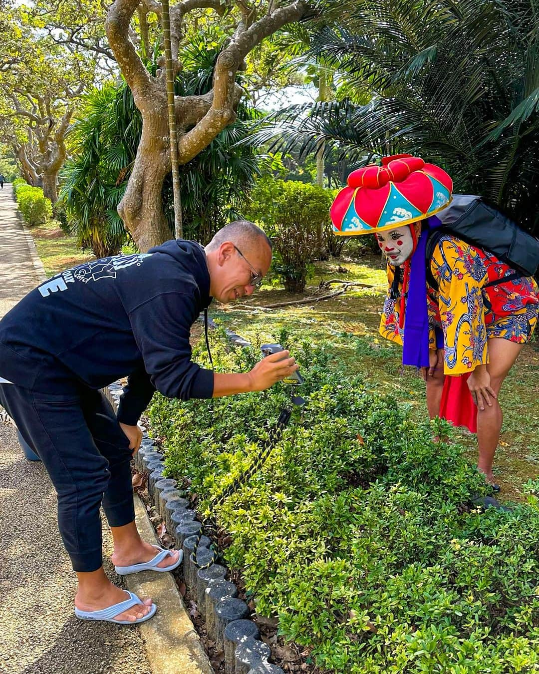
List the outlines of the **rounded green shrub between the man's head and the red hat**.
<svg viewBox="0 0 539 674">
<path fill-rule="evenodd" d="M 329 207 L 333 199 L 333 192 L 298 181 L 266 178 L 253 189 L 248 216 L 271 237 L 272 270 L 290 293 L 305 288 L 309 264 L 320 248 L 319 230 L 331 231 Z"/>
</svg>

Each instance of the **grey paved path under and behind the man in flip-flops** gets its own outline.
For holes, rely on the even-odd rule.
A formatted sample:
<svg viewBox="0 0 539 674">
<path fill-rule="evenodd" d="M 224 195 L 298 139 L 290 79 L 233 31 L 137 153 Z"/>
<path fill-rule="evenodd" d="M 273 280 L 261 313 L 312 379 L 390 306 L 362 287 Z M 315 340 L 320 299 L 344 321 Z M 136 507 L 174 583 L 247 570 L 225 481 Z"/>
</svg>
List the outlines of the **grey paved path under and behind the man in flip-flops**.
<svg viewBox="0 0 539 674">
<path fill-rule="evenodd" d="M 0 317 L 40 282 L 11 185 L 0 190 Z M 104 551 L 112 551 L 104 529 Z M 109 578 L 115 576 L 110 563 Z M 0 672 L 151 674 L 139 628 L 73 615 L 75 576 L 61 545 L 56 497 L 42 464 L 26 461 L 0 425 Z"/>
</svg>

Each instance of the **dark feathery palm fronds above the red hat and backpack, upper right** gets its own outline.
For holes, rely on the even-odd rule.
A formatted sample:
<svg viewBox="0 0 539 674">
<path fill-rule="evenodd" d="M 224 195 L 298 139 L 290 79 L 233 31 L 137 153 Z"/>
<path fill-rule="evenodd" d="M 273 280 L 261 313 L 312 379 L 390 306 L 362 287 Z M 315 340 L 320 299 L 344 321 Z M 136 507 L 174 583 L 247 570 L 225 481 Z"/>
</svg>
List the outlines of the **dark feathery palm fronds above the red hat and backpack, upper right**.
<svg viewBox="0 0 539 674">
<path fill-rule="evenodd" d="M 344 0 L 313 32 L 340 96 L 272 115 L 272 150 L 350 168 L 409 152 L 539 231 L 539 7 L 534 0 Z M 339 94 L 339 92 L 338 92 Z M 367 100 L 366 100 L 367 98 Z"/>
</svg>

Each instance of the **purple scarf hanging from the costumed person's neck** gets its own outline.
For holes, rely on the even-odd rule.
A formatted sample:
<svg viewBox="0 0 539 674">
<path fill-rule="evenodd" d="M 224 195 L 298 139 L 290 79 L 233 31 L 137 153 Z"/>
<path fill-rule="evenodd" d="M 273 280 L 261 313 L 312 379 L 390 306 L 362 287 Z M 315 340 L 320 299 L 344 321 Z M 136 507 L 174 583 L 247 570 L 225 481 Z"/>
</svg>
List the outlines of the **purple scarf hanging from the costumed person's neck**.
<svg viewBox="0 0 539 674">
<path fill-rule="evenodd" d="M 402 364 L 429 367 L 429 311 L 426 300 L 426 241 L 431 231 L 441 226 L 435 215 L 426 219 L 421 228 L 417 247 L 410 260 L 410 280 L 406 315 L 404 317 L 404 346 Z M 406 288 L 402 288 L 406 292 Z"/>
</svg>

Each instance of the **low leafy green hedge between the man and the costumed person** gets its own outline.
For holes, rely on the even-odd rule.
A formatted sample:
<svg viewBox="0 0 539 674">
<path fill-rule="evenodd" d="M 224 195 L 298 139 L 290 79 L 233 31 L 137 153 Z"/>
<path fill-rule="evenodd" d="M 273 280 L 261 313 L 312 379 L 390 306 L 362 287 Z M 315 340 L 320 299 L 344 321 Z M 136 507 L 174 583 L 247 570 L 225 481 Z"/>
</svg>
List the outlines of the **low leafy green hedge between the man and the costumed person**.
<svg viewBox="0 0 539 674">
<path fill-rule="evenodd" d="M 325 671 L 528 673 L 539 669 L 539 483 L 511 512 L 474 505 L 482 476 L 449 425 L 331 371 L 332 346 L 285 334 L 306 379 L 262 470 L 218 522 L 257 612 L 312 649 Z M 259 351 L 212 335 L 220 370 Z M 195 356 L 205 362 L 203 344 Z M 257 455 L 290 390 L 179 402 L 154 396 L 152 433 L 168 474 L 210 507 Z"/>
</svg>

